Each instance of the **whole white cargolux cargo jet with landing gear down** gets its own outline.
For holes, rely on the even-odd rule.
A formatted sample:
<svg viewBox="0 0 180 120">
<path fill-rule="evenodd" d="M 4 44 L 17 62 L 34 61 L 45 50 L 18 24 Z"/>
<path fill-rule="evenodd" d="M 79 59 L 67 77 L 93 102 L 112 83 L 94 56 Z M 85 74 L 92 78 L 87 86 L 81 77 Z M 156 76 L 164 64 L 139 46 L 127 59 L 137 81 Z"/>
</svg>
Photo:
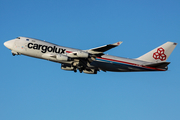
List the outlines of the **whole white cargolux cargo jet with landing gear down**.
<svg viewBox="0 0 180 120">
<path fill-rule="evenodd" d="M 136 59 L 105 55 L 104 52 L 117 47 L 122 42 L 108 44 L 89 50 L 73 49 L 42 40 L 17 37 L 4 45 L 12 55 L 27 55 L 61 63 L 61 69 L 97 74 L 97 71 L 132 72 L 132 71 L 166 71 L 170 62 L 166 62 L 177 43 L 166 42 Z"/>
</svg>

